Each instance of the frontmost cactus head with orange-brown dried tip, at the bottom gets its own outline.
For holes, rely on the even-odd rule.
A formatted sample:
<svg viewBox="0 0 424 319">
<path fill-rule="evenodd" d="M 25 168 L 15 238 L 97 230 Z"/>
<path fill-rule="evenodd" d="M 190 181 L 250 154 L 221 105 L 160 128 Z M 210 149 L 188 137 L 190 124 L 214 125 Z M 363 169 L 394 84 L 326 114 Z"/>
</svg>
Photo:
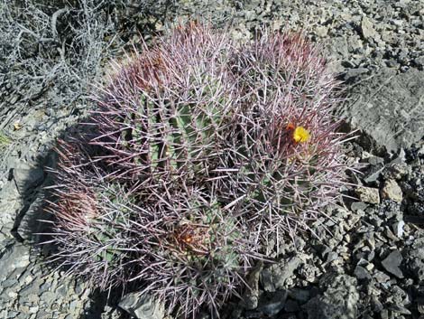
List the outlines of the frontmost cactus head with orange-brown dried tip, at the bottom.
<svg viewBox="0 0 424 319">
<path fill-rule="evenodd" d="M 169 312 L 195 317 L 207 305 L 217 314 L 228 296 L 243 287 L 253 243 L 245 240 L 245 230 L 232 211 L 208 199 L 210 193 L 170 195 L 139 215 L 142 220 L 134 231 L 149 233 L 152 239 L 140 246 L 141 270 L 134 279 L 141 280 L 143 291 L 167 305 Z"/>
</svg>

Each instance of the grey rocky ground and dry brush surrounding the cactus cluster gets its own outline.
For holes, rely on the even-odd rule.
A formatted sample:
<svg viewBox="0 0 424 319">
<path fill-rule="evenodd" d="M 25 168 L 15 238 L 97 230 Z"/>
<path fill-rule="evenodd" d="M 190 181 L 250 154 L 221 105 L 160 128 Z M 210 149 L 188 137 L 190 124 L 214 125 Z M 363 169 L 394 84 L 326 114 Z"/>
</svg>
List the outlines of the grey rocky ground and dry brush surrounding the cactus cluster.
<svg viewBox="0 0 424 319">
<path fill-rule="evenodd" d="M 37 220 L 54 141 L 90 107 L 88 83 L 140 36 L 198 18 L 239 38 L 263 25 L 306 29 L 345 82 L 340 114 L 358 129 L 347 152 L 363 163 L 346 190 L 357 200 L 327 208 L 333 220 L 314 225 L 320 239 L 283 243 L 281 261 L 258 265 L 253 291 L 229 301 L 223 317 L 424 318 L 422 1 L 0 3 L 0 317 L 161 318 L 149 300 L 107 301 L 43 264 Z"/>
</svg>

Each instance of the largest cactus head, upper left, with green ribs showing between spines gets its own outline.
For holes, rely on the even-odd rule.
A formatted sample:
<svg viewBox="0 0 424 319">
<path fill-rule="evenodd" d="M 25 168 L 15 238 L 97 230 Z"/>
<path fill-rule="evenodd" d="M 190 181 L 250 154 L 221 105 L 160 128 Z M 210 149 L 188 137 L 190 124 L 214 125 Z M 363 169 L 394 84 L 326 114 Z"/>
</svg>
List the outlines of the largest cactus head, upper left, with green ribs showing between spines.
<svg viewBox="0 0 424 319">
<path fill-rule="evenodd" d="M 191 24 L 137 55 L 97 97 L 93 145 L 118 179 L 185 183 L 217 166 L 231 114 L 224 35 Z M 190 182 L 192 183 L 192 182 Z"/>
</svg>

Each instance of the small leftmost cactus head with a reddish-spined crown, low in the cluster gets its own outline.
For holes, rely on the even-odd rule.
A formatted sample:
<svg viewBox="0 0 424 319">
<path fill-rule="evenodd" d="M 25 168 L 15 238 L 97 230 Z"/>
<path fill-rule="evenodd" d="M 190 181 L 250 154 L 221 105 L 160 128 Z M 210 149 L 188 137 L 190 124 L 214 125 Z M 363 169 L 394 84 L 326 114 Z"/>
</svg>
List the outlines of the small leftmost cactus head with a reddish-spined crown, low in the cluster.
<svg viewBox="0 0 424 319">
<path fill-rule="evenodd" d="M 59 167 L 52 194 L 57 201 L 49 202 L 47 211 L 54 219 L 46 234 L 57 251 L 50 261 L 102 290 L 125 286 L 131 273 L 125 263 L 134 258 L 126 230 L 133 219 L 129 207 L 134 196 L 119 184 L 107 183 L 106 174 L 93 165 L 88 148 L 83 150 L 80 142 L 60 141 L 57 149 Z"/>
</svg>

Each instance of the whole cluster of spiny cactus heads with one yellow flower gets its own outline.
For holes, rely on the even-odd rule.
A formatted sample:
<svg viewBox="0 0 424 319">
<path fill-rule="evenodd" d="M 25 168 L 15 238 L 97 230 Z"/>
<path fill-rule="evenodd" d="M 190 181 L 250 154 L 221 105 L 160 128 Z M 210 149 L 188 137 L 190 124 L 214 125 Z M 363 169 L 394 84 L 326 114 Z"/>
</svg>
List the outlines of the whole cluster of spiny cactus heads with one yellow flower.
<svg viewBox="0 0 424 319">
<path fill-rule="evenodd" d="M 300 33 L 176 27 L 99 89 L 90 134 L 58 147 L 52 260 L 173 314 L 217 314 L 269 239 L 339 196 L 335 86 Z"/>
</svg>

